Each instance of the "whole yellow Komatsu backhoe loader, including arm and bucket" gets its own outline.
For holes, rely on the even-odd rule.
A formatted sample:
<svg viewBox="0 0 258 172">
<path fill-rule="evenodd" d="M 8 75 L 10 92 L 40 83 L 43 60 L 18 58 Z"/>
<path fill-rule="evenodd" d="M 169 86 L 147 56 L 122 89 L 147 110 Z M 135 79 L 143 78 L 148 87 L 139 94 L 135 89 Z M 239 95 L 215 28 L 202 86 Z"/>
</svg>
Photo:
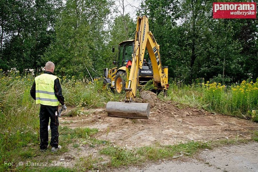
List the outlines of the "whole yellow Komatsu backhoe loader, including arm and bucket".
<svg viewBox="0 0 258 172">
<path fill-rule="evenodd" d="M 123 45 L 123 48 L 121 48 Z M 147 48 L 150 62 L 144 60 Z M 114 49 L 114 48 L 113 48 Z M 147 16 L 137 17 L 137 26 L 134 40 L 119 44 L 119 55 L 122 66 L 120 68 L 104 69 L 106 72 L 104 82 L 114 85 L 115 91 L 126 91 L 124 102 L 109 101 L 106 111 L 109 116 L 148 119 L 150 115 L 149 103 L 135 103 L 137 87 L 140 81 L 153 78 L 155 87 L 167 93 L 168 67 L 162 67 L 160 61 L 160 46 L 157 44 L 151 31 Z M 123 52 L 123 53 L 122 53 Z M 129 55 L 129 53 L 131 54 Z M 124 56 L 123 56 L 124 55 Z M 126 56 L 127 55 L 127 56 Z M 114 61 L 113 64 L 119 63 Z M 145 74 L 145 75 L 144 75 Z M 115 78 L 115 79 L 114 79 Z"/>
</svg>

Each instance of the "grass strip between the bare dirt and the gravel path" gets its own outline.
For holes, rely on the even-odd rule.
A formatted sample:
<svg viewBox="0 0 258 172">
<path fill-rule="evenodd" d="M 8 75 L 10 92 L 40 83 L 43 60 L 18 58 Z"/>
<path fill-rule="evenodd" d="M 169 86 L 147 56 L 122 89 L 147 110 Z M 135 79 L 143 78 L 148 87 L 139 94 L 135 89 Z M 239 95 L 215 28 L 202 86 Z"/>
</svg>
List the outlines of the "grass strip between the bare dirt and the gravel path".
<svg viewBox="0 0 258 172">
<path fill-rule="evenodd" d="M 176 145 L 160 145 L 156 143 L 151 146 L 144 146 L 135 148 L 134 150 L 127 150 L 126 148 L 117 146 L 104 147 L 100 153 L 108 155 L 110 161 L 107 167 L 123 167 L 128 165 L 139 166 L 145 162 L 157 162 L 158 160 L 166 159 L 172 160 L 179 157 L 179 155 L 193 157 L 196 153 L 204 149 L 213 149 L 214 147 L 221 147 L 224 145 L 238 145 L 248 143 L 249 141 L 257 141 L 258 131 L 255 131 L 254 137 L 251 140 L 239 139 L 222 139 L 219 141 L 190 141 L 187 143 L 180 143 Z"/>
</svg>

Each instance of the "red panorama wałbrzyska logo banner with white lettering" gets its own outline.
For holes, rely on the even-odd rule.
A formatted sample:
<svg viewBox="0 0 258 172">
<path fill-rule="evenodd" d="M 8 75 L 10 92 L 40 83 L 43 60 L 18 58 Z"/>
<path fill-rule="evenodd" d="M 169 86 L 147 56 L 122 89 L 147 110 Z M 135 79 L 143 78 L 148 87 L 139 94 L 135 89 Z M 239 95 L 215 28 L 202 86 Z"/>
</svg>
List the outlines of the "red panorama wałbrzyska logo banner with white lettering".
<svg viewBox="0 0 258 172">
<path fill-rule="evenodd" d="M 256 2 L 213 2 L 213 18 L 256 18 Z"/>
</svg>

